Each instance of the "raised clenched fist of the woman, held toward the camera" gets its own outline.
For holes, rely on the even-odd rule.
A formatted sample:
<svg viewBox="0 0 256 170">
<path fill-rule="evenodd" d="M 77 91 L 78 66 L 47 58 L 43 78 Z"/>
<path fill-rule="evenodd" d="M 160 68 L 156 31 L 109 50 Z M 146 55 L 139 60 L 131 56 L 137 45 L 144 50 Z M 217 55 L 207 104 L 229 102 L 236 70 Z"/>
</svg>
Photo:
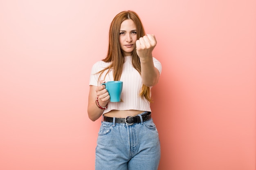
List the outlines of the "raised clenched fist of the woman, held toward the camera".
<svg viewBox="0 0 256 170">
<path fill-rule="evenodd" d="M 147 34 L 139 38 L 139 40 L 136 41 L 136 50 L 139 59 L 145 60 L 148 57 L 152 58 L 152 51 L 156 45 L 157 40 L 155 39 L 155 35 L 153 34 Z"/>
</svg>

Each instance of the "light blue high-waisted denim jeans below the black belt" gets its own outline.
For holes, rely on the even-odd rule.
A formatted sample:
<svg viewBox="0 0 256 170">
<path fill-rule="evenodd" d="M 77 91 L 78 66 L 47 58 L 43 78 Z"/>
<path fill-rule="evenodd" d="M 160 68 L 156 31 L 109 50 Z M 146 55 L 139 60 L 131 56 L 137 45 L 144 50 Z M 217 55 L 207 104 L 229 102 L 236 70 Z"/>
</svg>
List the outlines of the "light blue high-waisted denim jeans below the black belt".
<svg viewBox="0 0 256 170">
<path fill-rule="evenodd" d="M 101 124 L 95 170 L 157 170 L 160 142 L 153 119 L 143 122 L 141 118 L 133 125 L 113 120 Z"/>
</svg>

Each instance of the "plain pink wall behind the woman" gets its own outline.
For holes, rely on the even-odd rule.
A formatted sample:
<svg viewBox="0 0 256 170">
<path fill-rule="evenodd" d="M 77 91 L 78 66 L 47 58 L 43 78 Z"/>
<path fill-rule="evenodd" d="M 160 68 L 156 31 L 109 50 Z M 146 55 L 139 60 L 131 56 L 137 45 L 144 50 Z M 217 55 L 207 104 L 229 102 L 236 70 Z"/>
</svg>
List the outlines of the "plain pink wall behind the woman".
<svg viewBox="0 0 256 170">
<path fill-rule="evenodd" d="M 94 169 L 90 69 L 127 9 L 163 66 L 159 170 L 255 170 L 255 0 L 1 0 L 0 169 Z"/>
</svg>

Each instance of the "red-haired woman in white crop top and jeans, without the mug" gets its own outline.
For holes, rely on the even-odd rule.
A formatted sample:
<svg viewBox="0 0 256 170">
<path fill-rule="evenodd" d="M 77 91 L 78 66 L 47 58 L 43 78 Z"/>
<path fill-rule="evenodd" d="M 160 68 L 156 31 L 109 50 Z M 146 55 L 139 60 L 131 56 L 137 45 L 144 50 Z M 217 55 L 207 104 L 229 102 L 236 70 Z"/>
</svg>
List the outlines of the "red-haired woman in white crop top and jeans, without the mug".
<svg viewBox="0 0 256 170">
<path fill-rule="evenodd" d="M 96 170 L 157 170 L 158 132 L 151 119 L 151 87 L 162 66 L 152 56 L 157 42 L 145 34 L 139 16 L 123 11 L 110 25 L 108 53 L 92 66 L 88 116 L 103 115 L 96 148 Z M 103 82 L 123 81 L 121 102 L 110 102 Z"/>
</svg>

